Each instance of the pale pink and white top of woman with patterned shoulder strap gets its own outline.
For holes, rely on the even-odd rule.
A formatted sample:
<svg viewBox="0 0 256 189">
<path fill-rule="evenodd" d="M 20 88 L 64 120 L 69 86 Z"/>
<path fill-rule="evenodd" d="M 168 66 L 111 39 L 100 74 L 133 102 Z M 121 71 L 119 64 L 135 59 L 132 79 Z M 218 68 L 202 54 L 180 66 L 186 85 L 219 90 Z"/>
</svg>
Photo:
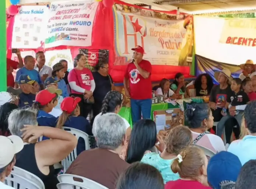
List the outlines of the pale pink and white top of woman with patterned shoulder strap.
<svg viewBox="0 0 256 189">
<path fill-rule="evenodd" d="M 200 133 L 196 133 L 193 131 L 191 132 L 192 132 L 193 140 L 197 138 L 198 135 L 200 135 Z M 223 140 L 219 136 L 213 135 L 211 133 L 208 133 L 202 136 L 202 138 L 200 138 L 196 144 L 199 146 L 206 147 L 211 151 L 213 151 L 214 153 L 217 153 L 220 151 L 226 151 Z"/>
</svg>

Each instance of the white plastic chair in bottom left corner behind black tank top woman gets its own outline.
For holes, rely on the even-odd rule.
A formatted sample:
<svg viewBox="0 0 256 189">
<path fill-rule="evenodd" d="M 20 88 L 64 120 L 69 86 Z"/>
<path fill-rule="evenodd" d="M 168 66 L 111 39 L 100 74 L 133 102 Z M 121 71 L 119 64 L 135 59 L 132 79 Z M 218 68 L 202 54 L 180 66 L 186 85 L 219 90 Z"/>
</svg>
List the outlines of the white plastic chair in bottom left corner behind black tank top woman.
<svg viewBox="0 0 256 189">
<path fill-rule="evenodd" d="M 42 186 L 39 186 L 36 183 L 31 182 L 28 179 L 14 173 L 11 173 L 9 176 L 7 176 L 4 182 L 6 185 L 11 186 L 15 189 L 44 189 L 45 188 L 44 185 L 42 188 Z"/>
</svg>

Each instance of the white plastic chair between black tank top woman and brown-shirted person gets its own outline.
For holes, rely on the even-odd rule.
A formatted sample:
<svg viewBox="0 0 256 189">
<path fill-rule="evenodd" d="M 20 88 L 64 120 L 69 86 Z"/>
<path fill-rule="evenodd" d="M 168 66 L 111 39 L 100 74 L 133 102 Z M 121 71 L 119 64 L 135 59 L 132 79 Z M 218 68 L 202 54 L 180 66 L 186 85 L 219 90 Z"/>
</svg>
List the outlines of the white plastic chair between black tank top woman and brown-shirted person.
<svg viewBox="0 0 256 189">
<path fill-rule="evenodd" d="M 85 150 L 90 149 L 89 136 L 85 132 L 65 126 L 63 126 L 62 129 L 75 135 L 77 140 L 82 137 L 85 140 Z M 68 167 L 75 160 L 75 158 L 77 158 L 77 147 L 75 147 L 75 149 L 71 151 L 71 153 L 64 160 L 61 161 L 61 164 L 64 167 L 64 172 L 67 171 Z"/>
</svg>

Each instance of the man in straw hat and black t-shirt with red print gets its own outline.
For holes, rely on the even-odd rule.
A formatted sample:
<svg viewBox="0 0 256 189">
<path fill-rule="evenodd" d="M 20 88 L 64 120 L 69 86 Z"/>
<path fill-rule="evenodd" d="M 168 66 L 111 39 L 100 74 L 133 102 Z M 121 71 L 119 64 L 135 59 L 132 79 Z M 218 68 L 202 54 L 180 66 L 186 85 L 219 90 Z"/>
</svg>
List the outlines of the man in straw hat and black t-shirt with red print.
<svg viewBox="0 0 256 189">
<path fill-rule="evenodd" d="M 223 117 L 223 110 L 225 111 L 226 101 L 232 95 L 232 90 L 230 88 L 230 83 L 232 80 L 231 71 L 227 68 L 221 71 L 215 71 L 215 79 L 218 81 L 219 85 L 211 89 L 210 94 L 210 108 L 212 109 L 214 122 L 220 121 Z"/>
</svg>

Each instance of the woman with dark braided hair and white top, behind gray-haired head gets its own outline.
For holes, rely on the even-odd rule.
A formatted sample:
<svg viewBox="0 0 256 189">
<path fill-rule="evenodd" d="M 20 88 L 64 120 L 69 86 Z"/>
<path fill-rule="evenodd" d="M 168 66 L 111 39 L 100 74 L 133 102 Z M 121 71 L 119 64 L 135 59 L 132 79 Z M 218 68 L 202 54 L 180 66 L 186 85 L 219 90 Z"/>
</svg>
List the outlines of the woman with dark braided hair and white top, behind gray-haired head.
<svg viewBox="0 0 256 189">
<path fill-rule="evenodd" d="M 97 119 L 106 113 L 115 113 L 118 114 L 120 111 L 122 104 L 124 102 L 124 95 L 116 90 L 112 90 L 107 93 L 103 102 L 102 102 L 102 112 L 96 115 L 93 125 L 92 125 L 92 133 L 95 135 L 95 128 L 97 126 Z M 126 125 L 126 135 L 129 138 L 131 134 L 131 127 L 127 120 L 123 118 L 125 125 Z"/>
</svg>

